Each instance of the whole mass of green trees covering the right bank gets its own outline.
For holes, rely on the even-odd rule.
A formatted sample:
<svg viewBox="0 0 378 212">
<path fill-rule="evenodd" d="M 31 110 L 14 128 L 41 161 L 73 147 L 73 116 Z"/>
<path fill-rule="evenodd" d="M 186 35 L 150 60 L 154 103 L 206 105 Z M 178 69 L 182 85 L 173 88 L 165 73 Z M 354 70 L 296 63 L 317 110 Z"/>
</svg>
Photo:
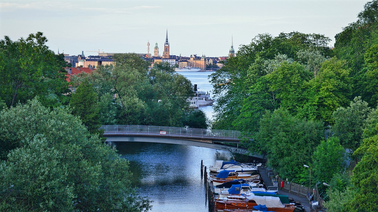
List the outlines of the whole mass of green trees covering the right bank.
<svg viewBox="0 0 378 212">
<path fill-rule="evenodd" d="M 330 211 L 376 211 L 378 0 L 335 38 L 332 49 L 324 35 L 300 32 L 241 45 L 212 74 L 213 127 L 254 133 L 249 151 L 267 153 L 283 179 L 308 182 L 310 166 L 333 188 L 321 188 Z"/>
</svg>

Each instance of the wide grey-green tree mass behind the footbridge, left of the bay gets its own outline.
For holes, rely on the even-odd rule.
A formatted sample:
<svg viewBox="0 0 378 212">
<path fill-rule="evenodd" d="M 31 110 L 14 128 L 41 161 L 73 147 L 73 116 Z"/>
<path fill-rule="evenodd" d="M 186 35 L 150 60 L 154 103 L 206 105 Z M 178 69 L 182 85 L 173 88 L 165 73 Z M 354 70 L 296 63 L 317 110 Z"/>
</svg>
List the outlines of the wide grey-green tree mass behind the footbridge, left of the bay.
<svg viewBox="0 0 378 212">
<path fill-rule="evenodd" d="M 193 95 L 191 82 L 168 63 L 149 69 L 149 63 L 137 54 L 115 54 L 113 58 L 115 66 L 102 66 L 71 78 L 78 90 L 89 83 L 97 94 L 90 99 L 98 102 L 98 123 L 207 128 L 206 115 L 188 108 L 187 98 Z M 81 98 L 84 96 L 78 100 Z M 95 111 L 87 113 L 95 115 Z M 191 114 L 199 117 L 188 120 Z"/>
</svg>

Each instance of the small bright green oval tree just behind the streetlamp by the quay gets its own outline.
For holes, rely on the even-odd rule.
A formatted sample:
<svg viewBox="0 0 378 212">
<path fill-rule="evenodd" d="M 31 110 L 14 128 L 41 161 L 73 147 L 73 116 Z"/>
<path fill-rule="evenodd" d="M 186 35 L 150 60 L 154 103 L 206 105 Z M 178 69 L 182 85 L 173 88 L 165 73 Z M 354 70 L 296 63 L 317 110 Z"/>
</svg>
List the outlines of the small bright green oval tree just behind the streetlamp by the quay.
<svg viewBox="0 0 378 212">
<path fill-rule="evenodd" d="M 344 148 L 339 143 L 339 138 L 330 137 L 316 147 L 312 156 L 313 174 L 316 181 L 328 182 L 333 175 L 344 171 Z"/>
</svg>

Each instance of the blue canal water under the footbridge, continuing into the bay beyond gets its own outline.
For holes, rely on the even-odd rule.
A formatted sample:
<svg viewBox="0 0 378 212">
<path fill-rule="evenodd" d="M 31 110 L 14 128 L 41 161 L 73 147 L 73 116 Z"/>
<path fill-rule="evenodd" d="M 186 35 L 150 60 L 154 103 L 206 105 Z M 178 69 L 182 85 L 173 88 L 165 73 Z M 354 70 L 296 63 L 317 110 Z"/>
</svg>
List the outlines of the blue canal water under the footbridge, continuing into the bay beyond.
<svg viewBox="0 0 378 212">
<path fill-rule="evenodd" d="M 209 91 L 211 72 L 181 72 L 197 84 L 198 91 Z M 212 97 L 212 95 L 211 95 Z M 209 118 L 212 106 L 201 106 Z M 117 142 L 118 153 L 130 161 L 132 183 L 153 200 L 152 212 L 208 212 L 201 160 L 204 166 L 215 160 L 229 160 L 231 154 L 204 147 L 178 144 Z"/>
</svg>

